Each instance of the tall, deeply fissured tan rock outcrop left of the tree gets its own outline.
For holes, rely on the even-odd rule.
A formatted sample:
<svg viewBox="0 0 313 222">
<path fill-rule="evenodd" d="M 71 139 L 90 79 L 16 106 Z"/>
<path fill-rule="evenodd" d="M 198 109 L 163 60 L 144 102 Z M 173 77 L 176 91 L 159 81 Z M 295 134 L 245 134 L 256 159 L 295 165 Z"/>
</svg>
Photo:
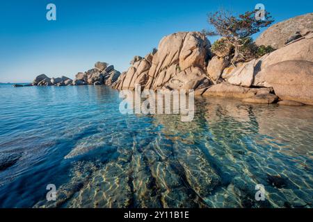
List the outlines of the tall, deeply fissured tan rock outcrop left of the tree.
<svg viewBox="0 0 313 222">
<path fill-rule="evenodd" d="M 210 43 L 198 32 L 163 37 L 158 50 L 135 57 L 114 85 L 117 89 L 202 89 L 211 84 L 207 73 Z"/>
</svg>

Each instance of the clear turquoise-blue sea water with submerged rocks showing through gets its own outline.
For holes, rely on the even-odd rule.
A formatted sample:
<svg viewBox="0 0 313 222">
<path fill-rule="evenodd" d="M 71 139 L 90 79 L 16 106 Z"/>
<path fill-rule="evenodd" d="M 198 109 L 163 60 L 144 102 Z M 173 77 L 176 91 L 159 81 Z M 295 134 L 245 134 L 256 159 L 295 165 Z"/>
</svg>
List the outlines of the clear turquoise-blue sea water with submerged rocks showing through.
<svg viewBox="0 0 313 222">
<path fill-rule="evenodd" d="M 103 86 L 0 85 L 0 207 L 313 206 L 313 107 L 198 98 L 183 123 L 120 101 Z"/>
</svg>

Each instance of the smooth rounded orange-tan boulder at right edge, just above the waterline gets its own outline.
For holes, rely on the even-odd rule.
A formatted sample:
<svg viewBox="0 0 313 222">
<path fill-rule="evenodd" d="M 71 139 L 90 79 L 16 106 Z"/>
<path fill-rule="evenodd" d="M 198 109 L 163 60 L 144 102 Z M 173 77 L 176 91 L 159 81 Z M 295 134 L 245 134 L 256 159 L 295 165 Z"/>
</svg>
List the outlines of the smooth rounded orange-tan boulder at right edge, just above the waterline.
<svg viewBox="0 0 313 222">
<path fill-rule="evenodd" d="M 280 99 L 313 105 L 313 62 L 278 62 L 266 67 L 257 76 L 259 83 L 273 87 Z"/>
</svg>

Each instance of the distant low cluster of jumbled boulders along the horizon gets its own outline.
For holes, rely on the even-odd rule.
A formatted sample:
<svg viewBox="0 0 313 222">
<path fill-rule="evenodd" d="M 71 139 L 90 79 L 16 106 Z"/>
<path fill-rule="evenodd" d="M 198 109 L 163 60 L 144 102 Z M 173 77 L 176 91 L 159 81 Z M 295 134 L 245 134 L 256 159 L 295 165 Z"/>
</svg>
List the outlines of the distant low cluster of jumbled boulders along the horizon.
<svg viewBox="0 0 313 222">
<path fill-rule="evenodd" d="M 109 65 L 106 62 L 96 62 L 95 68 L 86 72 L 79 72 L 75 76 L 76 78 L 74 80 L 67 78 L 66 76 L 61 76 L 60 78 L 49 78 L 45 74 L 41 74 L 33 80 L 32 85 L 112 85 L 116 80 L 118 80 L 119 76 L 120 72 L 115 70 L 113 65 Z"/>
</svg>

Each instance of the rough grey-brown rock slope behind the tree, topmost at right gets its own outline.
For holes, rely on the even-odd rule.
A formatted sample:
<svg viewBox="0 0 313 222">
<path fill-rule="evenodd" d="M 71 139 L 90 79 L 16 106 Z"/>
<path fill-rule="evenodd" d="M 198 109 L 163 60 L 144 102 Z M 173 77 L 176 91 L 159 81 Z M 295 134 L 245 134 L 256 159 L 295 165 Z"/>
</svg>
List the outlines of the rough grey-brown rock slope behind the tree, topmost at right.
<svg viewBox="0 0 313 222">
<path fill-rule="evenodd" d="M 313 32 L 313 13 L 300 15 L 284 22 L 274 24 L 262 33 L 255 41 L 258 45 L 270 45 L 275 49 L 282 48 L 286 43 Z M 298 37 L 296 37 L 298 35 Z"/>
</svg>

